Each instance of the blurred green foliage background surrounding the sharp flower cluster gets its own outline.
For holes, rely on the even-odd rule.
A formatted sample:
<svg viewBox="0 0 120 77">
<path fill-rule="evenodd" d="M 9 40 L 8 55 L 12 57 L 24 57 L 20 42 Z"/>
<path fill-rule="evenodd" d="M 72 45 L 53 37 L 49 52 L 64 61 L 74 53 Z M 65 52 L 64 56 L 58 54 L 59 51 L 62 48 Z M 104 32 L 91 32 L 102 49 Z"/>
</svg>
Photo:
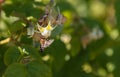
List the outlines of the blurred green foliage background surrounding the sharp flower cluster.
<svg viewBox="0 0 120 77">
<path fill-rule="evenodd" d="M 0 77 L 120 77 L 120 0 L 55 0 L 67 21 L 40 53 L 26 19 L 48 3 L 0 0 Z"/>
</svg>

